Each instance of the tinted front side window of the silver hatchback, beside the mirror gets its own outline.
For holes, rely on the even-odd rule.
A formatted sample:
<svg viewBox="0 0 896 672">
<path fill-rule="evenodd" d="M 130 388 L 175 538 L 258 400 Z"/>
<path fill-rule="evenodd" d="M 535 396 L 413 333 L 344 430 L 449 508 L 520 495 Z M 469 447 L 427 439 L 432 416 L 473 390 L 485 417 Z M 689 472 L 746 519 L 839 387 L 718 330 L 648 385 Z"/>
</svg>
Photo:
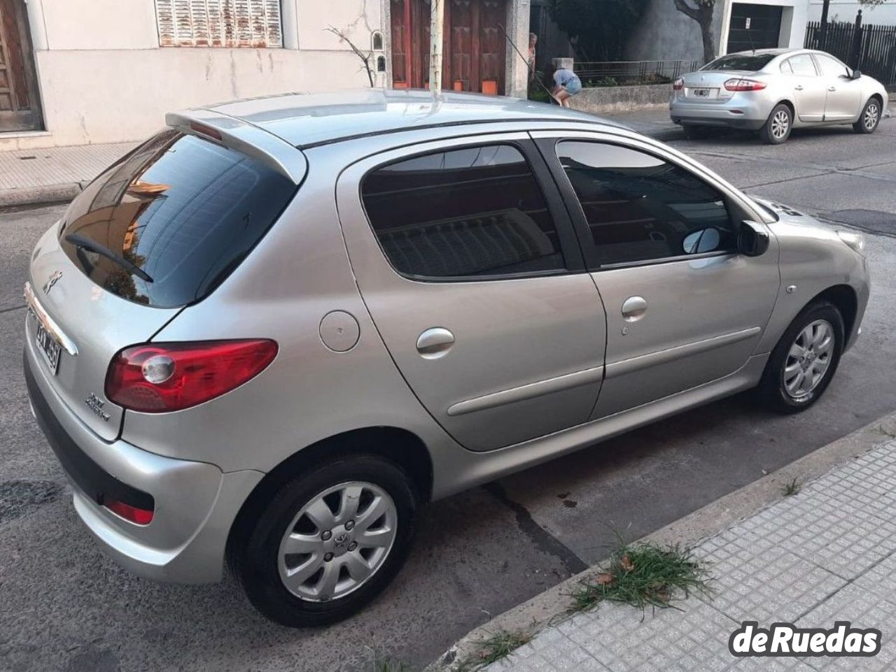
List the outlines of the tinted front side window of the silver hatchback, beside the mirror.
<svg viewBox="0 0 896 672">
<path fill-rule="evenodd" d="M 601 265 L 736 249 L 724 197 L 684 168 L 599 142 L 561 142 L 557 156 Z"/>
</svg>

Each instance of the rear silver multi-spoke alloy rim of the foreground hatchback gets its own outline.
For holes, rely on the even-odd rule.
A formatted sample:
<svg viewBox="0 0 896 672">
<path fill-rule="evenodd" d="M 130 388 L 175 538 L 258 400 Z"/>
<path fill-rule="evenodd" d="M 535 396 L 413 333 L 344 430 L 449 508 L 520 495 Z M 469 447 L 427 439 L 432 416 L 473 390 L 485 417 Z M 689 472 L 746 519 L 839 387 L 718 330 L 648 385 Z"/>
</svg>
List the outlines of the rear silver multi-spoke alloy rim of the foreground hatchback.
<svg viewBox="0 0 896 672">
<path fill-rule="evenodd" d="M 383 566 L 397 529 L 395 503 L 373 483 L 323 490 L 293 517 L 280 541 L 280 580 L 301 600 L 338 600 Z"/>
</svg>

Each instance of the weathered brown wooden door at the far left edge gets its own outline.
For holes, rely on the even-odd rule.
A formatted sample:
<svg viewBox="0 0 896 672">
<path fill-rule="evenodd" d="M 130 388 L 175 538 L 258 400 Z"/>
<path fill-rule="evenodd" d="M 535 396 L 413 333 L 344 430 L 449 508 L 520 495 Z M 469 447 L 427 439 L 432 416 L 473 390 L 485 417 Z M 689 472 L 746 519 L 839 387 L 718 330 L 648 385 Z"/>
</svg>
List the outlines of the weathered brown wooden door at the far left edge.
<svg viewBox="0 0 896 672">
<path fill-rule="evenodd" d="M 41 127 L 37 76 L 23 0 L 0 0 L 0 132 Z"/>
</svg>

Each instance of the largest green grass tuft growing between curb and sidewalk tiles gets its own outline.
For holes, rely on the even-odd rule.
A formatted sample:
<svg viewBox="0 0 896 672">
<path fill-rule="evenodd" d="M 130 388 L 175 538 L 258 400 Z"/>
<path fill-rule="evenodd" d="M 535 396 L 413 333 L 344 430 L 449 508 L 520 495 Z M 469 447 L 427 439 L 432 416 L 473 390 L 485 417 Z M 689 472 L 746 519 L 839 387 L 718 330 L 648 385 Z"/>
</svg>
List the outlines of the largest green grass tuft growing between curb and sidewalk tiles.
<svg viewBox="0 0 896 672">
<path fill-rule="evenodd" d="M 573 592 L 573 610 L 584 611 L 601 601 L 625 602 L 638 608 L 672 607 L 672 600 L 691 591 L 708 594 L 706 569 L 689 548 L 655 544 L 622 544 L 610 556 L 607 572 L 582 583 Z"/>
</svg>

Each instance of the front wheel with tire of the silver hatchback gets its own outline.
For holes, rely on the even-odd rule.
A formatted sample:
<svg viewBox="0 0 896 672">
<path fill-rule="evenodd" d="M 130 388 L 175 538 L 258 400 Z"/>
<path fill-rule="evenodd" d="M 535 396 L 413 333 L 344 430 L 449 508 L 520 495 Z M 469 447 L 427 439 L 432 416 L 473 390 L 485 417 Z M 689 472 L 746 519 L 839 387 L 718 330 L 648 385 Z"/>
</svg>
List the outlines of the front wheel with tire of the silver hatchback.
<svg viewBox="0 0 896 672">
<path fill-rule="evenodd" d="M 778 413 L 799 413 L 817 402 L 840 364 L 844 334 L 843 317 L 832 303 L 806 306 L 771 351 L 756 390 L 762 404 Z"/>
</svg>

